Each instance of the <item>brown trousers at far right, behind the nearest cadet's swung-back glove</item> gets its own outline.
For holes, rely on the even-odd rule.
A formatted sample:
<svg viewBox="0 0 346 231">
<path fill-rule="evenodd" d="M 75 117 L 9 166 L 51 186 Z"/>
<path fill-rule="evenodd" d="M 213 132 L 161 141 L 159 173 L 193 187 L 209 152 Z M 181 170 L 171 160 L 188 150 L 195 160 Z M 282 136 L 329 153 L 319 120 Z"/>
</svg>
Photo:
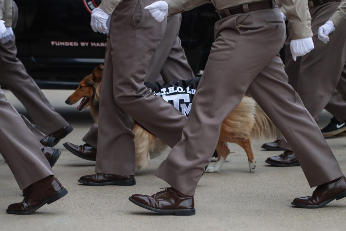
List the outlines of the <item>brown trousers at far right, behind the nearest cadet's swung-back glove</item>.
<svg viewBox="0 0 346 231">
<path fill-rule="evenodd" d="M 318 28 L 334 14 L 339 3 L 330 2 L 310 8 L 312 40 L 315 44 L 310 53 L 294 62 L 290 52 L 290 36 L 286 41 L 285 71 L 289 83 L 316 121 L 324 108 L 340 121 L 346 120 L 346 102 L 342 97 L 346 93 L 346 20 L 330 34 L 327 44 L 318 39 Z M 292 150 L 284 139 L 280 147 Z"/>
</svg>

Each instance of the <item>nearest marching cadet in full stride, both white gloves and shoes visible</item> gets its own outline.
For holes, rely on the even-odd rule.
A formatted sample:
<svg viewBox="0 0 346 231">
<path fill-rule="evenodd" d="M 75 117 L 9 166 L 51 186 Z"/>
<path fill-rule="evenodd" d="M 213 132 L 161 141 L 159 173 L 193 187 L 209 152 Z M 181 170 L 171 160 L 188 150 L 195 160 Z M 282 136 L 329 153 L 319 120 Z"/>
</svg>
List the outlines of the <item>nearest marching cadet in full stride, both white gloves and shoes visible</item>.
<svg viewBox="0 0 346 231">
<path fill-rule="evenodd" d="M 162 21 L 167 15 L 191 10 L 208 0 L 158 1 L 146 9 Z M 313 49 L 311 18 L 304 0 L 280 1 L 291 23 L 294 57 Z M 315 120 L 288 84 L 279 56 L 286 40 L 285 24 L 275 1 L 214 0 L 221 20 L 215 24 L 215 42 L 199 83 L 182 139 L 155 174 L 172 187 L 152 196 L 129 199 L 148 210 L 194 215 L 196 186 L 215 149 L 221 123 L 242 100 L 245 92 L 280 129 L 300 160 L 312 196 L 298 197 L 293 205 L 319 208 L 346 197 L 346 178 Z M 125 174 L 125 172 L 123 172 Z"/>
</svg>

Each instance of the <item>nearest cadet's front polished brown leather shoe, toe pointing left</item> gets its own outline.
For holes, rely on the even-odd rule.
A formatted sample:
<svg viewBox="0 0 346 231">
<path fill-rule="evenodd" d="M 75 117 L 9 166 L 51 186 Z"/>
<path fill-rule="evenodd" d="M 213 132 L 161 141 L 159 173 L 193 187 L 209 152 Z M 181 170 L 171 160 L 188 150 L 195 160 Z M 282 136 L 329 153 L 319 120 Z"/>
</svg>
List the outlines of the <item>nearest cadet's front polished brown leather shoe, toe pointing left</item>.
<svg viewBox="0 0 346 231">
<path fill-rule="evenodd" d="M 142 208 L 157 213 L 177 216 L 191 216 L 196 213 L 193 196 L 182 195 L 172 187 L 165 188 L 151 196 L 135 194 L 130 196 L 129 200 Z"/>
</svg>

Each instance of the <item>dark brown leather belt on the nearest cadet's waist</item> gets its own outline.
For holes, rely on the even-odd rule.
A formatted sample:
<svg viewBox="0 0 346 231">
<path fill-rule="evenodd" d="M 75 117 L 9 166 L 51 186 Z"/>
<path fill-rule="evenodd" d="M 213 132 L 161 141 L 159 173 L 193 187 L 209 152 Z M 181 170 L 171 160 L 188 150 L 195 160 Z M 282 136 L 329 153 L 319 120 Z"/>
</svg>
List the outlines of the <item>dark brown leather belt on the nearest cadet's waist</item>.
<svg viewBox="0 0 346 231">
<path fill-rule="evenodd" d="M 226 8 L 222 10 L 216 10 L 220 18 L 226 18 L 231 15 L 243 14 L 255 10 L 272 9 L 276 7 L 274 0 L 265 0 L 259 2 L 245 3 L 236 7 Z"/>
</svg>

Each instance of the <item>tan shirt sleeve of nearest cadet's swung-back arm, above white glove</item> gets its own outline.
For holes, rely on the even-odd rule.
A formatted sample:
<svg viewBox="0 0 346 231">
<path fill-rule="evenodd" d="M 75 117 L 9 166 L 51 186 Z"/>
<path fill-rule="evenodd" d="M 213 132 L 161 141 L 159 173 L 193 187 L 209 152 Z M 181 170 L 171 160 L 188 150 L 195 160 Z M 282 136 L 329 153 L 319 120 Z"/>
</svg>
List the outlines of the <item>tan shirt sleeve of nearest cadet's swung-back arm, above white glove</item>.
<svg viewBox="0 0 346 231">
<path fill-rule="evenodd" d="M 312 37 L 311 16 L 306 0 L 280 0 L 291 24 L 292 39 Z"/>
</svg>

